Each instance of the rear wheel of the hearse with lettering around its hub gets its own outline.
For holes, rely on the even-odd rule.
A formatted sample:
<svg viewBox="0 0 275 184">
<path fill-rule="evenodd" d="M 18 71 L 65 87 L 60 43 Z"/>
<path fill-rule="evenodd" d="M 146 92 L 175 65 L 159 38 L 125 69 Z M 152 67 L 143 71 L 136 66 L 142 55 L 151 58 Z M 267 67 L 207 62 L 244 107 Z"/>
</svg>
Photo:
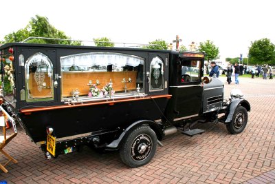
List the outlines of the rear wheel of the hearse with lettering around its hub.
<svg viewBox="0 0 275 184">
<path fill-rule="evenodd" d="M 151 161 L 157 149 L 157 136 L 148 126 L 135 128 L 120 147 L 120 159 L 129 167 L 140 167 Z"/>
</svg>

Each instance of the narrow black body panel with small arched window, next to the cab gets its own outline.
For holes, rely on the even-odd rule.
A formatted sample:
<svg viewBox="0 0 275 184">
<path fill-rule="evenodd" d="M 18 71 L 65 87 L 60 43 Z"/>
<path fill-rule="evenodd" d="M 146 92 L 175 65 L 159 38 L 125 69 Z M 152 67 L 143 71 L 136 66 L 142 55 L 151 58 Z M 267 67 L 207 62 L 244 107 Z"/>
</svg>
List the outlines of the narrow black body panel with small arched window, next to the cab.
<svg viewBox="0 0 275 184">
<path fill-rule="evenodd" d="M 149 53 L 146 63 L 146 94 L 168 94 L 168 53 Z"/>
</svg>

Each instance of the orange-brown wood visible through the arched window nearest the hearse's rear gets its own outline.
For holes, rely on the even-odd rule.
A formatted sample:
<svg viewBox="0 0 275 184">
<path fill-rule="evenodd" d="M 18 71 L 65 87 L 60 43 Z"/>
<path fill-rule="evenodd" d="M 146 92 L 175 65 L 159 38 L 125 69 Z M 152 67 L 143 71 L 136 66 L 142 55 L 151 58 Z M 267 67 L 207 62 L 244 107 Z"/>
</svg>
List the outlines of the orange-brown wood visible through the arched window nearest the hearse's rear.
<svg viewBox="0 0 275 184">
<path fill-rule="evenodd" d="M 46 86 L 51 87 L 50 77 L 47 76 L 47 72 L 44 72 L 44 74 L 45 74 L 44 82 L 46 83 Z M 34 99 L 52 97 L 51 88 L 43 88 L 41 92 L 39 92 L 38 85 L 36 84 L 36 81 L 34 79 L 34 73 L 30 73 L 29 93 L 32 94 L 32 97 Z"/>
</svg>

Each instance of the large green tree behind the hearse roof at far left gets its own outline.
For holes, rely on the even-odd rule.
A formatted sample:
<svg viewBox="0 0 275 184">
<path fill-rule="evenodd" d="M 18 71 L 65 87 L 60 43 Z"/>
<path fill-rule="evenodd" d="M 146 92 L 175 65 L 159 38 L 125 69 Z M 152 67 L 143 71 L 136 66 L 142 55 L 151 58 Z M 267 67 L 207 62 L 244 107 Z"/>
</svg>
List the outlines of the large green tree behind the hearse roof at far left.
<svg viewBox="0 0 275 184">
<path fill-rule="evenodd" d="M 66 34 L 54 28 L 49 23 L 47 17 L 41 17 L 36 15 L 32 17 L 28 25 L 25 28 L 12 32 L 4 37 L 3 43 L 19 42 L 27 39 L 28 37 L 46 37 L 54 39 L 71 39 Z M 30 39 L 28 43 L 52 43 L 52 44 L 69 44 L 69 45 L 81 45 L 80 41 L 64 41 L 64 40 L 51 40 L 51 39 Z"/>
</svg>

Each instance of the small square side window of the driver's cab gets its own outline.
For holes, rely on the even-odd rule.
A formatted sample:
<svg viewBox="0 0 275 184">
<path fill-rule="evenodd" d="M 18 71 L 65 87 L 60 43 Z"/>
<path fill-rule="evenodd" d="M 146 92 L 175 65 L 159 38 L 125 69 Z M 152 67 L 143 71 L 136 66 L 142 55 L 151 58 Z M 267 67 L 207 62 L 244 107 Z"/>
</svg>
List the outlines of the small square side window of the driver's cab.
<svg viewBox="0 0 275 184">
<path fill-rule="evenodd" d="M 200 63 L 201 61 L 181 60 L 181 83 L 200 81 Z"/>
</svg>

